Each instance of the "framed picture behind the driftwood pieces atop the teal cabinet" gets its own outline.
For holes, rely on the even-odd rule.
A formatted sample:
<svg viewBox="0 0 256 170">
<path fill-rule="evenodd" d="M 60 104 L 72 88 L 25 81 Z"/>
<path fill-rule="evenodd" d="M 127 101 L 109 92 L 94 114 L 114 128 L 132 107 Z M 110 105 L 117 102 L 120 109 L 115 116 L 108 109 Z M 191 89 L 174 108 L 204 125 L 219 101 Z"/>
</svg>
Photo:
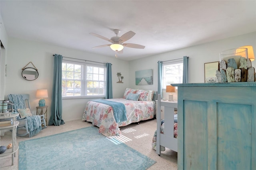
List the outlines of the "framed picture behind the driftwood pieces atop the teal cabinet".
<svg viewBox="0 0 256 170">
<path fill-rule="evenodd" d="M 204 83 L 217 83 L 216 70 L 219 69 L 219 61 L 204 63 Z"/>
</svg>

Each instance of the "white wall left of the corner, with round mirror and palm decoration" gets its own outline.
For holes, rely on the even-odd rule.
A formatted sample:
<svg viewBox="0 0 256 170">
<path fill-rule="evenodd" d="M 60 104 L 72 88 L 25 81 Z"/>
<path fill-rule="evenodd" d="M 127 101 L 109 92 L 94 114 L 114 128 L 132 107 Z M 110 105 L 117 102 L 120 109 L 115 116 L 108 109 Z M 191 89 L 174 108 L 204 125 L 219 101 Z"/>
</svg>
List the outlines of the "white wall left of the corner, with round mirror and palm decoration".
<svg viewBox="0 0 256 170">
<path fill-rule="evenodd" d="M 30 94 L 30 104 L 32 113 L 36 113 L 38 106 L 38 98 L 36 98 L 37 89 L 48 89 L 48 120 L 50 119 L 50 105 L 52 96 L 52 81 L 53 81 L 53 54 L 60 54 L 65 57 L 73 57 L 79 59 L 87 59 L 102 63 L 112 63 L 112 81 L 113 81 L 113 97 L 122 97 L 124 89 L 128 87 L 129 67 L 128 61 L 120 59 L 100 56 L 84 51 L 48 45 L 44 43 L 19 40 L 9 38 L 8 41 L 8 56 L 7 56 L 7 77 L 5 99 L 8 99 L 8 94 Z M 22 78 L 22 68 L 29 62 L 32 62 L 38 69 L 39 77 L 34 81 L 27 81 Z M 29 64 L 28 67 L 33 67 Z M 124 83 L 116 83 L 118 77 L 116 73 L 120 72 L 124 77 Z M 64 121 L 72 121 L 82 119 L 82 114 L 86 102 L 90 99 L 64 99 L 62 119 Z"/>
</svg>

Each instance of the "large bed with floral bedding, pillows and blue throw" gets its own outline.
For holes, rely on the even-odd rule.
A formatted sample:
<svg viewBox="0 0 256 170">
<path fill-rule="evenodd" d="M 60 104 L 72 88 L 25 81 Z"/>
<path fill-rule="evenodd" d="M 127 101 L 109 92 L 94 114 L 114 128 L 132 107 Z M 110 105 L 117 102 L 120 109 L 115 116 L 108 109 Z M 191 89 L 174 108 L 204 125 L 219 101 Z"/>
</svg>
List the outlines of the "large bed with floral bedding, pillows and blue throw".
<svg viewBox="0 0 256 170">
<path fill-rule="evenodd" d="M 88 101 L 82 121 L 91 122 L 92 125 L 99 127 L 99 132 L 105 136 L 120 135 L 119 127 L 154 119 L 155 98 L 156 93 L 153 90 L 126 88 L 123 98 Z M 123 112 L 118 110 L 122 105 L 125 107 L 125 119 L 124 115 L 117 115 Z"/>
</svg>

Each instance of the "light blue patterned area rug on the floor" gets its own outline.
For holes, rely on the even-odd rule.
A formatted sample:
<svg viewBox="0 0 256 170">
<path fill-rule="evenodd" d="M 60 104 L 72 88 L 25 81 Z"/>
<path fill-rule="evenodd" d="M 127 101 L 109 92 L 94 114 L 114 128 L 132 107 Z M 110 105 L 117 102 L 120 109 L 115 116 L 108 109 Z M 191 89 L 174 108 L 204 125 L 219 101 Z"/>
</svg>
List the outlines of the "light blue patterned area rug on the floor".
<svg viewBox="0 0 256 170">
<path fill-rule="evenodd" d="M 19 142 L 20 170 L 145 170 L 156 161 L 87 127 Z"/>
</svg>

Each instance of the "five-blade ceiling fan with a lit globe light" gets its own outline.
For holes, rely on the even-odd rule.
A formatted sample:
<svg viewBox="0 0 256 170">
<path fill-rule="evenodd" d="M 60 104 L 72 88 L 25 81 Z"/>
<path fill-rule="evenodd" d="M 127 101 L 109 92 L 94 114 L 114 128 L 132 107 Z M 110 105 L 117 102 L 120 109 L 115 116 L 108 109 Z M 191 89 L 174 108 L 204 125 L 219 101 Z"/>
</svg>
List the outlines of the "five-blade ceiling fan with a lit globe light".
<svg viewBox="0 0 256 170">
<path fill-rule="evenodd" d="M 120 33 L 120 30 L 115 29 L 114 33 L 116 34 L 115 37 L 112 37 L 110 39 L 100 36 L 98 34 L 95 33 L 90 33 L 93 36 L 96 36 L 98 38 L 101 38 L 103 40 L 107 40 L 108 42 L 112 43 L 112 44 L 106 44 L 106 45 L 99 45 L 96 47 L 92 47 L 92 48 L 99 48 L 99 47 L 106 47 L 106 46 L 110 46 L 110 48 L 118 53 L 123 53 L 123 48 L 124 47 L 130 47 L 130 48 L 139 48 L 139 49 L 144 49 L 145 46 L 144 45 L 139 45 L 139 44 L 135 44 L 135 43 L 124 43 L 127 40 L 130 40 L 130 38 L 132 38 L 135 33 L 132 31 L 126 32 L 124 35 L 122 35 L 121 37 L 118 37 L 118 34 Z"/>
</svg>

